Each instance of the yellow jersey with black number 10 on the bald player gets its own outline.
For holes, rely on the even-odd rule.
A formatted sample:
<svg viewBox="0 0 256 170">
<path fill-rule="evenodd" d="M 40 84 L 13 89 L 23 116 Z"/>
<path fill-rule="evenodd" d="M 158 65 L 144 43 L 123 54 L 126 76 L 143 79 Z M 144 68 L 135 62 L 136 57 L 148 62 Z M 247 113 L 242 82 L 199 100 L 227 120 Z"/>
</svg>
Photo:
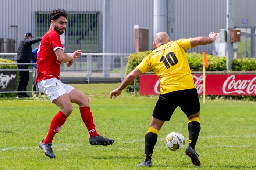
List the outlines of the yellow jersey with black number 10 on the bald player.
<svg viewBox="0 0 256 170">
<path fill-rule="evenodd" d="M 190 41 L 180 39 L 160 45 L 136 67 L 142 73 L 153 70 L 160 77 L 160 94 L 196 88 L 185 54 L 191 48 Z"/>
</svg>

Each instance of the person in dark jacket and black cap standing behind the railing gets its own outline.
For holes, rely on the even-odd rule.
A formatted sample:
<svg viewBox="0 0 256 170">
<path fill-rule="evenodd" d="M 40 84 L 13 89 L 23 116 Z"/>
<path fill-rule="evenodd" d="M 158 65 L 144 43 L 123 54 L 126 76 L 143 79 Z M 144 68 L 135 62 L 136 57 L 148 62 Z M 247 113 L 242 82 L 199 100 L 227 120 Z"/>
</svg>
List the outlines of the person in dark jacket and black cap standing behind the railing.
<svg viewBox="0 0 256 170">
<path fill-rule="evenodd" d="M 32 44 L 41 41 L 41 37 L 33 38 L 31 33 L 25 33 L 24 38 L 19 42 L 17 63 L 30 63 L 32 59 L 36 62 L 36 58 L 32 53 Z M 18 65 L 19 69 L 28 69 L 28 65 Z M 17 88 L 17 98 L 29 97 L 27 93 L 21 92 L 26 91 L 28 85 L 29 74 L 28 71 L 19 71 L 19 83 Z"/>
</svg>

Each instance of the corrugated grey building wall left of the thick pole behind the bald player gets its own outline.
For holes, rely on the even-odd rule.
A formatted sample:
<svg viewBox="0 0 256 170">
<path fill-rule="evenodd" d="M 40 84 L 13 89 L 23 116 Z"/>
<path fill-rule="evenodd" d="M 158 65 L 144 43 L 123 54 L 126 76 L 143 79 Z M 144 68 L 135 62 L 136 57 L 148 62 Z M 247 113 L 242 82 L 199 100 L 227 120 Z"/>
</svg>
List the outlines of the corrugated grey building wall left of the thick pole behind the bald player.
<svg viewBox="0 0 256 170">
<path fill-rule="evenodd" d="M 111 51 L 113 53 L 134 52 L 133 25 L 148 26 L 153 33 L 153 0 L 111 0 Z M 68 12 L 100 12 L 103 0 L 0 0 L 0 38 L 16 40 L 18 44 L 24 33 L 35 35 L 35 12 L 49 12 L 54 8 Z M 103 17 L 101 17 L 103 19 Z M 102 22 L 101 22 L 102 23 Z M 150 36 L 150 42 L 153 41 Z M 153 48 L 152 43 L 149 44 Z"/>
</svg>

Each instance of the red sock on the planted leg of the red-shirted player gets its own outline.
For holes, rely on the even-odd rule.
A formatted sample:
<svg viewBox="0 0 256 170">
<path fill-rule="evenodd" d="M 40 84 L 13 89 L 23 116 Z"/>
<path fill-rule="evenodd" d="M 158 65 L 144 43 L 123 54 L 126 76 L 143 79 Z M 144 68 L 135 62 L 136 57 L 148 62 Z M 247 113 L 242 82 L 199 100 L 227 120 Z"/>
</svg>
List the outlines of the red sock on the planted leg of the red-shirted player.
<svg viewBox="0 0 256 170">
<path fill-rule="evenodd" d="M 53 141 L 53 137 L 56 133 L 60 131 L 61 126 L 65 123 L 67 116 L 63 114 L 63 112 L 59 111 L 51 121 L 50 129 L 43 140 L 44 144 L 51 143 Z"/>
</svg>

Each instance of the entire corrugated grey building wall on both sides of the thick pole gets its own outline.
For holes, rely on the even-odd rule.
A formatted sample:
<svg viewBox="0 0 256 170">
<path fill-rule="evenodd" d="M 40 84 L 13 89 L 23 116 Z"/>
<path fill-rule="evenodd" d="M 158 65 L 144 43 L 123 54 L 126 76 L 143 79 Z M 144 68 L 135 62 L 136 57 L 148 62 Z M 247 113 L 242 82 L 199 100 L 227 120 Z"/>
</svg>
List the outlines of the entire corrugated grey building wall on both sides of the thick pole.
<svg viewBox="0 0 256 170">
<path fill-rule="evenodd" d="M 208 36 L 225 29 L 226 0 L 167 0 L 167 9 L 175 5 L 175 29 L 172 40 Z M 104 0 L 0 0 L 0 38 L 18 38 L 25 32 L 35 35 L 35 12 L 63 8 L 68 12 L 100 12 Z M 149 27 L 149 49 L 153 49 L 153 0 L 111 0 L 111 52 L 134 52 L 134 25 Z M 101 17 L 102 21 L 103 17 Z M 102 24 L 102 22 L 101 22 Z M 16 35 L 16 27 L 18 34 Z M 170 30 L 168 30 L 170 32 Z M 104 35 L 102 35 L 104 36 Z M 211 53 L 213 45 L 189 51 Z"/>
</svg>

